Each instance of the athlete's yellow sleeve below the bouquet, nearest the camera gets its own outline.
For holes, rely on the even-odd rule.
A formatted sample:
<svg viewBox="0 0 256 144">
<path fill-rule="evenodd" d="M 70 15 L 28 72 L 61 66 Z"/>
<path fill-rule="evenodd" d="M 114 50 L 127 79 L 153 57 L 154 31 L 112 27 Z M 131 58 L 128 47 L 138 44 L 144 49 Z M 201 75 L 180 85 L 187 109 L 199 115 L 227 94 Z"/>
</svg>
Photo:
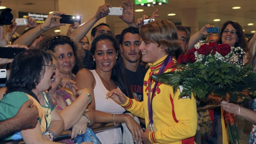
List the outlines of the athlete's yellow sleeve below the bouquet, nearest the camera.
<svg viewBox="0 0 256 144">
<path fill-rule="evenodd" d="M 178 89 L 179 91 L 179 89 Z M 173 94 L 173 92 L 171 92 Z M 170 143 L 185 140 L 195 136 L 197 128 L 196 100 L 195 97 L 179 97 L 177 92 L 172 97 L 173 111 L 177 123 L 164 130 L 149 133 L 149 140 L 152 143 Z M 173 116 L 173 114 L 170 114 Z M 174 118 L 175 119 L 175 118 Z M 193 140 L 191 140 L 193 141 Z"/>
</svg>

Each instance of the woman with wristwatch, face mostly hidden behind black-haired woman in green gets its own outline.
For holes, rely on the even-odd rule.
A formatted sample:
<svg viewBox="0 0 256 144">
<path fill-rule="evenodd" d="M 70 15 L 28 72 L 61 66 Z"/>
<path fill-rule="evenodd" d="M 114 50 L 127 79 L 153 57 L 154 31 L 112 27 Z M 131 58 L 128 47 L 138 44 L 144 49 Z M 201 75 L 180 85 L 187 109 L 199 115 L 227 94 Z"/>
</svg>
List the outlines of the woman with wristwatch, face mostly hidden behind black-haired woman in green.
<svg viewBox="0 0 256 144">
<path fill-rule="evenodd" d="M 71 139 L 74 139 L 77 134 L 84 134 L 87 126 L 94 124 L 95 118 L 93 113 L 91 111 L 85 111 L 87 105 L 90 103 L 91 92 L 89 89 L 84 88 L 76 92 L 76 98 L 72 94 L 71 89 L 63 87 L 58 88 L 61 81 L 58 58 L 53 52 L 48 52 L 52 55 L 52 63 L 56 65 L 49 94 L 56 109 L 59 110 L 60 116 L 64 120 L 65 129 L 69 129 L 73 126 Z M 74 143 L 73 140 L 65 140 L 62 142 Z"/>
</svg>

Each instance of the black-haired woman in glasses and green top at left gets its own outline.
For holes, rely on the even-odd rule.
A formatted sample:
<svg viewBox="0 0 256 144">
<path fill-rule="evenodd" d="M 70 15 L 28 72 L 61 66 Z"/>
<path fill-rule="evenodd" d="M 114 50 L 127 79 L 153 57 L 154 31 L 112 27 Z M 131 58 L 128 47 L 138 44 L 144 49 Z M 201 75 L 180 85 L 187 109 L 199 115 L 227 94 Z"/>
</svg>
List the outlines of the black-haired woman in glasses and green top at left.
<svg viewBox="0 0 256 144">
<path fill-rule="evenodd" d="M 51 55 L 43 50 L 31 49 L 15 57 L 6 84 L 8 90 L 0 101 L 0 121 L 14 117 L 29 99 L 36 105 L 39 119 L 36 127 L 17 131 L 4 140 L 20 140 L 22 137 L 25 143 L 53 143 L 50 140 L 64 129 L 63 119 L 49 94 L 44 92 L 51 87 L 55 69 Z"/>
</svg>

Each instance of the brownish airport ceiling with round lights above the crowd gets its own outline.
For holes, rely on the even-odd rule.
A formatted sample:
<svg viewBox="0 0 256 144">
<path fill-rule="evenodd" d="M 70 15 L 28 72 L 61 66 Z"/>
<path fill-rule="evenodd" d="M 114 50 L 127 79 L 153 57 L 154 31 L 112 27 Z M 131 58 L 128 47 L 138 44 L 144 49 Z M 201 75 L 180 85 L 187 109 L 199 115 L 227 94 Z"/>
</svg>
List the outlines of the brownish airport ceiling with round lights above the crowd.
<svg viewBox="0 0 256 144">
<path fill-rule="evenodd" d="M 84 0 L 84 2 L 86 1 Z M 122 4 L 123 0 L 105 1 L 117 7 Z M 16 13 L 16 15 L 18 11 L 47 14 L 49 11 L 57 9 L 56 3 L 57 0 L 2 0 L 1 6 L 11 8 L 13 10 L 12 13 Z M 146 5 L 135 5 L 135 9 L 144 10 L 135 12 L 135 19 L 142 17 L 143 14 L 151 16 L 152 12 L 158 8 L 159 19 L 181 23 L 181 10 L 195 8 L 197 9 L 199 29 L 205 24 L 221 27 L 225 21 L 233 20 L 243 27 L 245 34 L 253 34 L 251 31 L 256 30 L 256 0 L 169 0 L 169 4 L 155 4 L 150 7 Z M 240 6 L 241 8 L 232 9 L 235 6 Z M 189 13 L 189 11 L 187 12 Z M 169 13 L 175 13 L 176 15 L 167 16 Z M 213 21 L 213 19 L 220 19 L 220 21 Z M 248 23 L 253 23 L 254 25 L 248 26 Z"/>
</svg>

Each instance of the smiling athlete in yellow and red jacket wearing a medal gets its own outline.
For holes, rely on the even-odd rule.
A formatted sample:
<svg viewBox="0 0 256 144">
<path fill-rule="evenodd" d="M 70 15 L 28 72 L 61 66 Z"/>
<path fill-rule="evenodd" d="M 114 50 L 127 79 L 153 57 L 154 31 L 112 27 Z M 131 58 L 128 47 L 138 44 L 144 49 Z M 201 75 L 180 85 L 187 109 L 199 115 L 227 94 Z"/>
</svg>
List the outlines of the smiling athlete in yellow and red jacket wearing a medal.
<svg viewBox="0 0 256 144">
<path fill-rule="evenodd" d="M 181 49 L 177 30 L 170 21 L 156 20 L 141 26 L 140 36 L 142 61 L 149 65 L 144 78 L 144 102 L 125 97 L 119 89 L 110 91 L 107 98 L 112 98 L 133 115 L 145 118 L 148 127 L 142 134 L 143 143 L 193 144 L 197 127 L 195 97 L 180 98 L 180 89 L 175 93 L 172 86 L 150 77 L 175 71 L 175 56 Z"/>
</svg>

